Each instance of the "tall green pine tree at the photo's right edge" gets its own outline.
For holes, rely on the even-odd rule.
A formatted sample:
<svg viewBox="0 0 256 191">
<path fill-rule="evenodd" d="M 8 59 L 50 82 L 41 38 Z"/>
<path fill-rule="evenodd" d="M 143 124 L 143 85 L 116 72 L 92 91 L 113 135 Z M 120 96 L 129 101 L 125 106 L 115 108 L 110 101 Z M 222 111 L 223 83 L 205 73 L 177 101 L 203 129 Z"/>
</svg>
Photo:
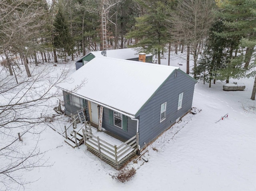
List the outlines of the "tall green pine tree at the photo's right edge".
<svg viewBox="0 0 256 191">
<path fill-rule="evenodd" d="M 228 67 L 222 70 L 223 73 L 233 78 L 256 76 L 253 51 L 256 46 L 256 0 L 219 0 L 218 6 L 221 9 L 220 17 L 227 27 L 220 36 L 232 37 L 234 43 L 230 43 L 230 55 L 235 53 L 234 56 L 230 56 Z M 245 53 L 244 47 L 246 47 Z M 252 100 L 255 100 L 255 93 L 256 80 L 252 90 Z"/>
</svg>

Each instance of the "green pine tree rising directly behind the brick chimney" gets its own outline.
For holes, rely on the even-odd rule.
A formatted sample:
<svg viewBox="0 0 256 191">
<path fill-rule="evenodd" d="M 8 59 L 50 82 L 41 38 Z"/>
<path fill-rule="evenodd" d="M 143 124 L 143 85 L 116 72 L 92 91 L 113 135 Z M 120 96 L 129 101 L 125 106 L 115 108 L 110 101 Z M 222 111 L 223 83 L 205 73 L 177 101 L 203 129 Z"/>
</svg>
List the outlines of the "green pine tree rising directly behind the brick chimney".
<svg viewBox="0 0 256 191">
<path fill-rule="evenodd" d="M 156 52 L 160 64 L 161 51 L 165 50 L 169 39 L 166 20 L 170 16 L 168 11 L 172 1 L 166 0 L 138 0 L 146 13 L 136 18 L 134 29 L 126 37 L 135 38 L 137 43 L 132 47 L 142 47 L 139 51 L 146 53 Z"/>
</svg>

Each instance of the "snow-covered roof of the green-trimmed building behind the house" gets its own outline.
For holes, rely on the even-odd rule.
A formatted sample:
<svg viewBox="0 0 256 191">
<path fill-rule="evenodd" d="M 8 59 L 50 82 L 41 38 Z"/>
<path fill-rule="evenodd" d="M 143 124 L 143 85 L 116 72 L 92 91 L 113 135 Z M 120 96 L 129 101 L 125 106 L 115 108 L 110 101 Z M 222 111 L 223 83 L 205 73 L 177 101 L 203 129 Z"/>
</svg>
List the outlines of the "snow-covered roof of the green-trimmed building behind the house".
<svg viewBox="0 0 256 191">
<path fill-rule="evenodd" d="M 104 55 L 101 54 L 102 51 L 92 51 L 90 53 L 92 53 L 95 57 L 104 57 Z M 132 48 L 107 50 L 106 53 L 107 53 L 107 57 L 125 59 L 125 60 L 139 57 L 138 51 L 136 51 L 135 49 L 132 49 Z M 85 55 L 85 56 L 87 56 L 87 55 Z M 152 56 L 152 54 L 146 54 L 146 56 Z M 78 59 L 76 62 L 82 60 L 84 57 Z"/>
</svg>

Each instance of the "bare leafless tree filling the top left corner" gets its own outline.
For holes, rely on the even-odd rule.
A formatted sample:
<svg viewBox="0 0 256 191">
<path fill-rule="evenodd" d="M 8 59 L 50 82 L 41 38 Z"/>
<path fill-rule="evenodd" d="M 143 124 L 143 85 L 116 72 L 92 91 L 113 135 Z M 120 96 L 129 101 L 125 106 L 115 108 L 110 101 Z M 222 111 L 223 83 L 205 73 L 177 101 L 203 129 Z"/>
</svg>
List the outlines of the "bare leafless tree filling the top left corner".
<svg viewBox="0 0 256 191">
<path fill-rule="evenodd" d="M 27 59 L 41 46 L 48 14 L 46 0 L 0 0 L 0 53 L 19 53 L 28 77 Z"/>
</svg>

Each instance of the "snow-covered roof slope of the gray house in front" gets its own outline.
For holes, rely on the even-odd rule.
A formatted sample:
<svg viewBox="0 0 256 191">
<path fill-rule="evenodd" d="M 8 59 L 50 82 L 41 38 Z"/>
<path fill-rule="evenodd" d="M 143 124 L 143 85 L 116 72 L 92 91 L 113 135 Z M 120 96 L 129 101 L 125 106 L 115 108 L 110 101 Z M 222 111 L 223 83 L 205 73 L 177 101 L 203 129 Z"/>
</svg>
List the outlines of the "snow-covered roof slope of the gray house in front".
<svg viewBox="0 0 256 191">
<path fill-rule="evenodd" d="M 95 57 L 58 87 L 103 106 L 135 116 L 178 67 Z M 86 80 L 83 87 L 73 91 Z"/>
</svg>

